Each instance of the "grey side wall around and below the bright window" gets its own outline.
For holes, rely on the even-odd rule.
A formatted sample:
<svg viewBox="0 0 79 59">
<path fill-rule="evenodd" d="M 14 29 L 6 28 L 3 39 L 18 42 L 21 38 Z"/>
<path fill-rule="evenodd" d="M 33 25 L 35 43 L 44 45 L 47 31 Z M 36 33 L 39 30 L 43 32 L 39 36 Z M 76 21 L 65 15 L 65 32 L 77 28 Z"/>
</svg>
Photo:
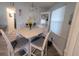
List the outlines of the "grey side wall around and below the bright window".
<svg viewBox="0 0 79 59">
<path fill-rule="evenodd" d="M 56 47 L 56 49 L 58 50 L 58 52 L 61 55 L 63 55 L 64 49 L 66 46 L 66 41 L 67 41 L 68 32 L 69 32 L 69 28 L 70 28 L 68 22 L 71 18 L 71 14 L 73 14 L 75 3 L 60 4 L 59 7 L 64 6 L 64 5 L 66 5 L 66 8 L 65 8 L 64 21 L 61 23 L 62 24 L 61 33 L 56 34 L 57 37 L 60 37 L 60 38 L 56 38 L 56 39 L 54 38 L 55 40 L 53 41 L 54 46 Z M 55 10 L 56 6 L 53 7 L 54 9 L 52 8 L 52 10 Z M 57 6 L 57 8 L 59 8 L 59 7 Z"/>
</svg>

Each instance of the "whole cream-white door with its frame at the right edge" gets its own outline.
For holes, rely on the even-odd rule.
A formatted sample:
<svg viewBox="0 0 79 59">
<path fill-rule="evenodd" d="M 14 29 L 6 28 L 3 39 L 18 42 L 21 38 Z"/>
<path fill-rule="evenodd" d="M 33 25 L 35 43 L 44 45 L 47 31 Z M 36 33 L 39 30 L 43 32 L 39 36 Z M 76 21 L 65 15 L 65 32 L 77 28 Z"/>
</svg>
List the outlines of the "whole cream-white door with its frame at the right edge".
<svg viewBox="0 0 79 59">
<path fill-rule="evenodd" d="M 69 32 L 69 37 L 64 51 L 64 55 L 79 56 L 79 3 L 76 3 L 74 17 Z"/>
</svg>

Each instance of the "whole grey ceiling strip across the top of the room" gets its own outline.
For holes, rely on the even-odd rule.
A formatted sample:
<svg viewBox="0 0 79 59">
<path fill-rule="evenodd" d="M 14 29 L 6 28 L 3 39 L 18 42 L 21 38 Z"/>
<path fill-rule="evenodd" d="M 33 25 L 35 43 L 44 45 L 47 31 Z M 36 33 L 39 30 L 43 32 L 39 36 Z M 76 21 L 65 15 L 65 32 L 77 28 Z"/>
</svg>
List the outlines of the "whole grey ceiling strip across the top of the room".
<svg viewBox="0 0 79 59">
<path fill-rule="evenodd" d="M 27 4 L 33 7 L 40 7 L 42 9 L 50 9 L 51 7 L 53 7 L 57 2 L 14 2 L 14 4 L 16 3 L 22 3 L 22 4 Z M 10 5 L 10 2 L 0 2 L 0 6 L 6 6 L 6 5 Z"/>
</svg>

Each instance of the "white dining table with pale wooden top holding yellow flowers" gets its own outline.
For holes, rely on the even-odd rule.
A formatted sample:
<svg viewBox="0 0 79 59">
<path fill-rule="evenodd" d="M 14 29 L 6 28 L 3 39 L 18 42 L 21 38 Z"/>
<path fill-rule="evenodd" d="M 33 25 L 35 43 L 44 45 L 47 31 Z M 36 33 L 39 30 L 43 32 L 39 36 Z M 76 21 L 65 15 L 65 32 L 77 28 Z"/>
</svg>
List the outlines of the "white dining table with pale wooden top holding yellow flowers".
<svg viewBox="0 0 79 59">
<path fill-rule="evenodd" d="M 29 46 L 31 43 L 31 38 L 37 36 L 40 33 L 45 33 L 47 32 L 47 28 L 39 28 L 39 27 L 33 27 L 32 29 L 29 28 L 22 28 L 17 30 L 17 33 L 25 37 L 26 39 L 29 40 Z M 29 55 L 31 55 L 31 46 L 29 49 Z"/>
</svg>

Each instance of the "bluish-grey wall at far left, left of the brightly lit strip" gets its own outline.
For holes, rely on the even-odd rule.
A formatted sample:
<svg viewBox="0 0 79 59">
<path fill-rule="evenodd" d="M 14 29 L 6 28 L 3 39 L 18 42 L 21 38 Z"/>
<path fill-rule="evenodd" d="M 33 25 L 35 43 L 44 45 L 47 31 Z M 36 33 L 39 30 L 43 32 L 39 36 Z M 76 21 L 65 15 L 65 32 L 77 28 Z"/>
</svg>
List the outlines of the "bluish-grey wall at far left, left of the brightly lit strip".
<svg viewBox="0 0 79 59">
<path fill-rule="evenodd" d="M 7 11 L 6 8 L 9 7 L 9 3 L 7 2 L 0 2 L 0 25 L 7 26 Z"/>
</svg>

